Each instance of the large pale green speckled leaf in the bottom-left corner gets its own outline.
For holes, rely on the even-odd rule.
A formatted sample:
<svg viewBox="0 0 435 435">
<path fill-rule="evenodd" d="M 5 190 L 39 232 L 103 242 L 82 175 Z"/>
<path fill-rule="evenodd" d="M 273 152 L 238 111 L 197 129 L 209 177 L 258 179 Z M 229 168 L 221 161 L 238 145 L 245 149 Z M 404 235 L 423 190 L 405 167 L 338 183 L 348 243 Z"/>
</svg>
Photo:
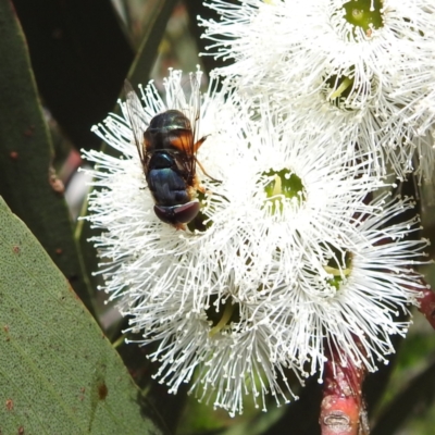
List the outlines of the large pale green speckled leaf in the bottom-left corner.
<svg viewBox="0 0 435 435">
<path fill-rule="evenodd" d="M 0 433 L 161 434 L 119 355 L 2 199 L 0 227 Z"/>
</svg>

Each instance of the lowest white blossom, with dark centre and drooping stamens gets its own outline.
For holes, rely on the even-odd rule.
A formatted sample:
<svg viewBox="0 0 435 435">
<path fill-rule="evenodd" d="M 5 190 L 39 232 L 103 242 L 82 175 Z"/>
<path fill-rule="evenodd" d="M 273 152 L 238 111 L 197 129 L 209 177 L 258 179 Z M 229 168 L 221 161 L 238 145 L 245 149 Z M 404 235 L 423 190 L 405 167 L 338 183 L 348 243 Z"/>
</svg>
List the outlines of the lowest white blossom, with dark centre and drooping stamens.
<svg viewBox="0 0 435 435">
<path fill-rule="evenodd" d="M 190 382 L 189 393 L 231 415 L 243 412 L 246 395 L 264 411 L 269 394 L 278 406 L 295 397 L 284 372 L 291 365 L 273 360 L 276 328 L 269 313 L 236 300 L 231 282 L 201 301 L 195 285 L 174 286 L 171 294 L 152 300 L 146 293 L 138 295 L 127 311 L 133 315 L 130 330 L 144 333 L 141 345 L 159 341 L 150 355 L 160 362 L 154 377 L 170 386 L 170 393 Z"/>
</svg>

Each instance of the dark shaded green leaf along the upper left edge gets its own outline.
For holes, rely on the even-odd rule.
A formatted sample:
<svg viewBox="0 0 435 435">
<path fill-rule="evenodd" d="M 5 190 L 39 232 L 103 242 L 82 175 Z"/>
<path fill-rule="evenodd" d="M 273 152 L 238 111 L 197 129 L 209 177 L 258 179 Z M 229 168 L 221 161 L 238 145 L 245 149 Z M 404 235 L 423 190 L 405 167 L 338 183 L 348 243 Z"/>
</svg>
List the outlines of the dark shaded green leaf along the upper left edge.
<svg viewBox="0 0 435 435">
<path fill-rule="evenodd" d="M 23 33 L 0 2 L 0 195 L 30 228 L 88 309 L 91 291 L 73 237 Z"/>
</svg>

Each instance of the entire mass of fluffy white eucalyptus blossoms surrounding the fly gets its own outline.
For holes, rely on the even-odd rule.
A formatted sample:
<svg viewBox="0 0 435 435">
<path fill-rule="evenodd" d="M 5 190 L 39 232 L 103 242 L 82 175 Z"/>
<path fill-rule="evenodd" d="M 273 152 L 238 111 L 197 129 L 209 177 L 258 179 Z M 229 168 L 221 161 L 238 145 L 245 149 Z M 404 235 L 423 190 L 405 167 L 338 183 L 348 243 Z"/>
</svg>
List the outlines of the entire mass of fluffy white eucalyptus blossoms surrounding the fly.
<svg viewBox="0 0 435 435">
<path fill-rule="evenodd" d="M 332 349 L 375 371 L 406 334 L 428 241 L 385 175 L 430 176 L 435 15 L 397 3 L 209 1 L 222 20 L 202 20 L 204 36 L 234 63 L 202 96 L 199 70 L 189 91 L 171 71 L 164 98 L 151 83 L 95 127 L 119 153 L 84 151 L 103 289 L 140 344 L 158 344 L 149 357 L 170 391 L 190 382 L 231 414 L 247 395 L 265 409 L 269 394 L 279 405 L 295 381 L 322 378 Z M 200 144 L 199 212 L 183 225 L 154 213 L 170 187 L 148 182 L 144 134 L 167 110 Z"/>
</svg>

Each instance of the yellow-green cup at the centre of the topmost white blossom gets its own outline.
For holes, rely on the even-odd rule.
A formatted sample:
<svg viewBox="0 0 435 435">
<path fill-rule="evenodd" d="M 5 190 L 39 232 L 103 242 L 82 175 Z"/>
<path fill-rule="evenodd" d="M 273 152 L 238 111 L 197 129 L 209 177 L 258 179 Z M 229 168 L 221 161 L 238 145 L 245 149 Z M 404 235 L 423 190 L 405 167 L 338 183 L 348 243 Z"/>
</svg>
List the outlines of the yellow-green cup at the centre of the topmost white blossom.
<svg viewBox="0 0 435 435">
<path fill-rule="evenodd" d="M 382 16 L 382 0 L 350 0 L 343 5 L 345 18 L 353 26 L 361 27 L 365 33 L 372 28 L 384 26 Z"/>
</svg>

